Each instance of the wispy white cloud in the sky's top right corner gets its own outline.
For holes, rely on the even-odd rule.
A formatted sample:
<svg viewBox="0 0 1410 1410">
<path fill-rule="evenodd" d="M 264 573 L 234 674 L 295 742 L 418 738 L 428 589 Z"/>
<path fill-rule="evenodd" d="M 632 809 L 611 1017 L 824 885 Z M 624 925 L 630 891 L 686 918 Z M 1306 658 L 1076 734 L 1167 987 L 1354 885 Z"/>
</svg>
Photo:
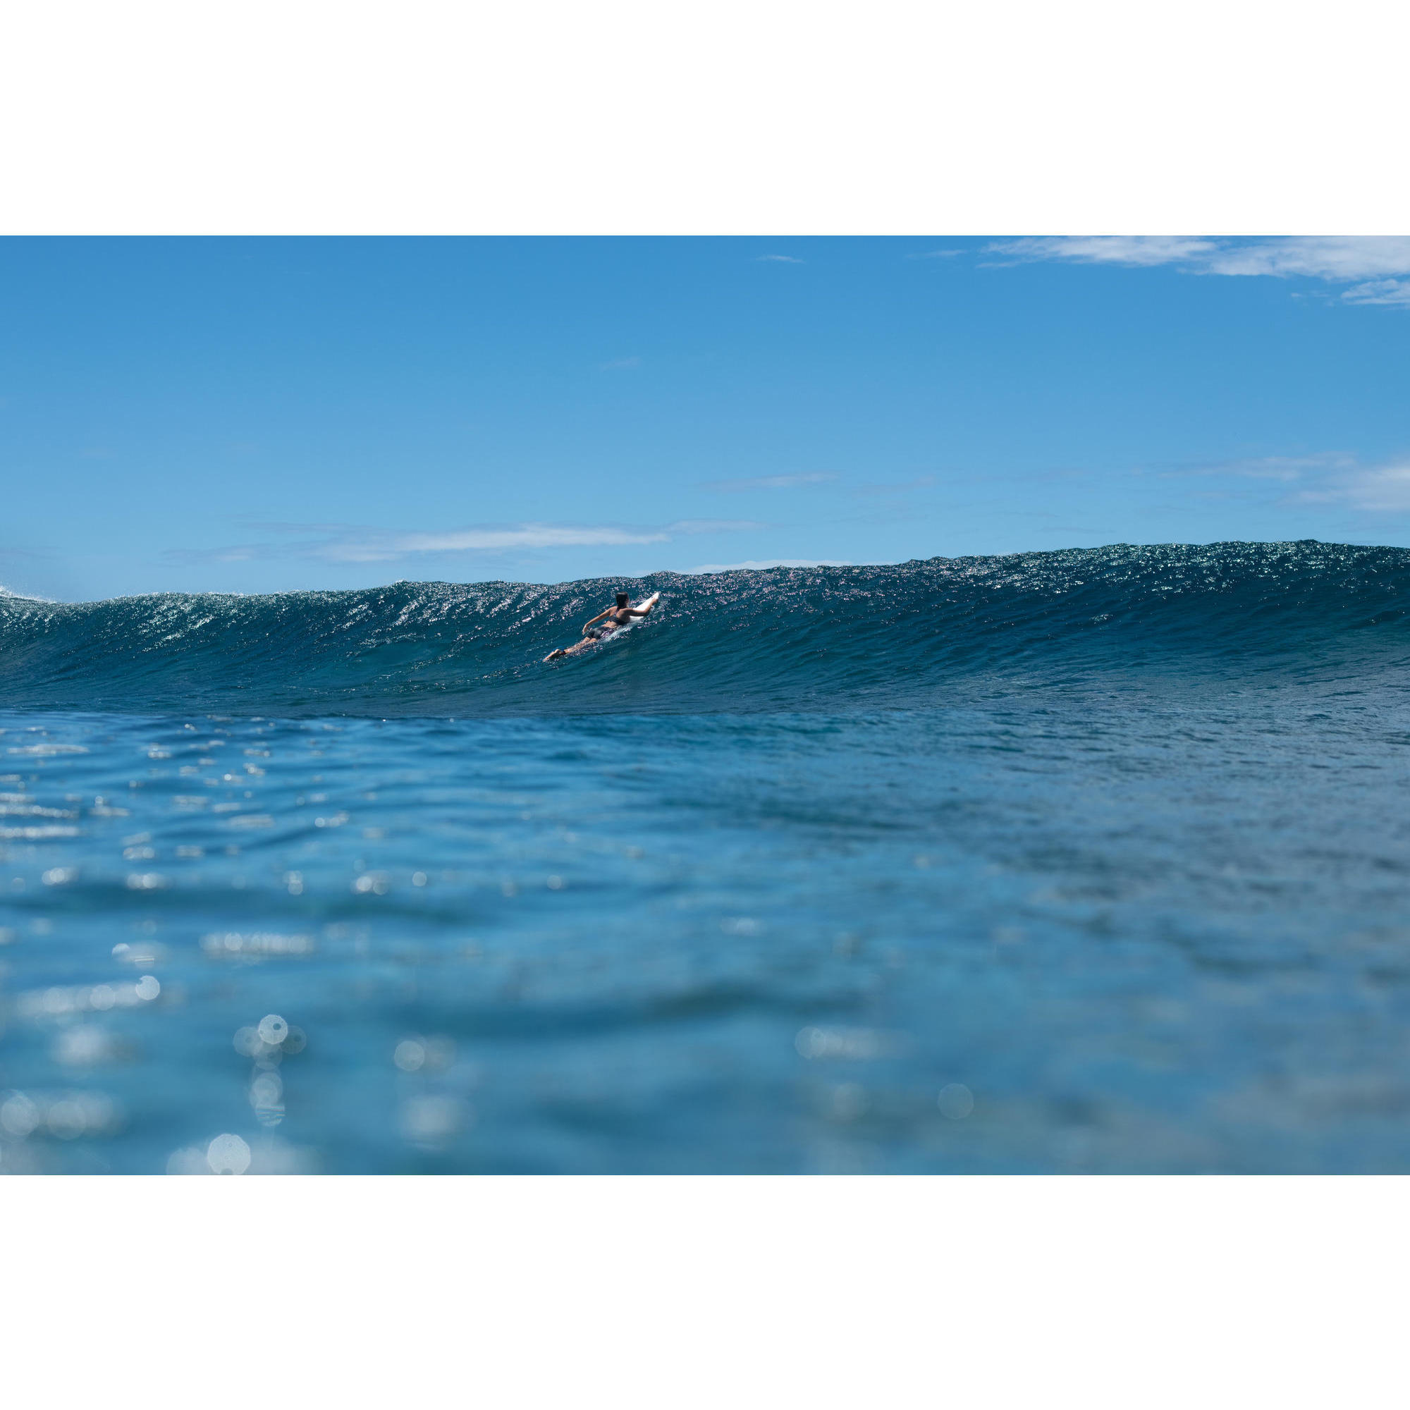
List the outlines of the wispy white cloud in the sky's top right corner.
<svg viewBox="0 0 1410 1410">
<path fill-rule="evenodd" d="M 1175 265 L 1190 274 L 1307 278 L 1347 283 L 1348 303 L 1410 307 L 1410 237 L 1297 235 L 1266 240 L 1198 235 L 1059 235 L 1001 240 L 990 255 L 1012 261 L 1062 259 L 1149 268 Z"/>
</svg>

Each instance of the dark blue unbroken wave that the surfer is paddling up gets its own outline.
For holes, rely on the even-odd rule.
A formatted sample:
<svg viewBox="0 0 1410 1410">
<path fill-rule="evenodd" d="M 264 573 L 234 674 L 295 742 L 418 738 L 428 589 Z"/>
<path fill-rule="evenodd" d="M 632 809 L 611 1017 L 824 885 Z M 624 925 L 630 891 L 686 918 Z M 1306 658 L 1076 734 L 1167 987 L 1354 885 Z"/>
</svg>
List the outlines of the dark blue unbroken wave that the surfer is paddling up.
<svg viewBox="0 0 1410 1410">
<path fill-rule="evenodd" d="M 550 666 L 619 588 L 661 605 Z M 1387 682 L 1410 550 L 1222 543 L 632 581 L 0 596 L 0 705 L 474 716 L 918 708 L 1152 678 Z"/>
</svg>

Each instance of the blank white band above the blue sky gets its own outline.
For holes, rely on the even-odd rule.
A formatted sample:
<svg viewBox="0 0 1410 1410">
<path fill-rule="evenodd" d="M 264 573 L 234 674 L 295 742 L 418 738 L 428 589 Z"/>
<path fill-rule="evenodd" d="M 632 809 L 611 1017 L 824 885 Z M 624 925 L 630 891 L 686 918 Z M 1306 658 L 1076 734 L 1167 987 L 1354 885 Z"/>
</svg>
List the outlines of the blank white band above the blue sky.
<svg viewBox="0 0 1410 1410">
<path fill-rule="evenodd" d="M 1410 11 L 1348 0 L 51 0 L 11 234 L 1399 234 Z"/>
</svg>

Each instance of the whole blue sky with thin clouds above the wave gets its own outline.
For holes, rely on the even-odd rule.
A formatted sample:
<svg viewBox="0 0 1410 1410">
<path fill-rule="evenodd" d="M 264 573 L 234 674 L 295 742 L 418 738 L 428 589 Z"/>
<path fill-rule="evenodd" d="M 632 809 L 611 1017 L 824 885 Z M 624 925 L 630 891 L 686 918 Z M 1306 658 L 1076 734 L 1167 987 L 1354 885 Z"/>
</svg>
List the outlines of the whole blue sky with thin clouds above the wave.
<svg viewBox="0 0 1410 1410">
<path fill-rule="evenodd" d="M 0 584 L 1410 544 L 1410 240 L 0 241 Z"/>
</svg>

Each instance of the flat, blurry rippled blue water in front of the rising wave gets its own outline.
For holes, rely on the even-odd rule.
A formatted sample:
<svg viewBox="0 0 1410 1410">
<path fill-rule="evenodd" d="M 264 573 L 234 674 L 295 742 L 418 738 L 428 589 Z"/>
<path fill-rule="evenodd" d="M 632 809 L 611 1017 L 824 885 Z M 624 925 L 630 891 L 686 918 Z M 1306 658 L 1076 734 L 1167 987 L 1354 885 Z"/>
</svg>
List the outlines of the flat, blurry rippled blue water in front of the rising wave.
<svg viewBox="0 0 1410 1410">
<path fill-rule="evenodd" d="M 10 715 L 6 1167 L 1402 1169 L 1410 722 L 1239 704 Z"/>
</svg>

